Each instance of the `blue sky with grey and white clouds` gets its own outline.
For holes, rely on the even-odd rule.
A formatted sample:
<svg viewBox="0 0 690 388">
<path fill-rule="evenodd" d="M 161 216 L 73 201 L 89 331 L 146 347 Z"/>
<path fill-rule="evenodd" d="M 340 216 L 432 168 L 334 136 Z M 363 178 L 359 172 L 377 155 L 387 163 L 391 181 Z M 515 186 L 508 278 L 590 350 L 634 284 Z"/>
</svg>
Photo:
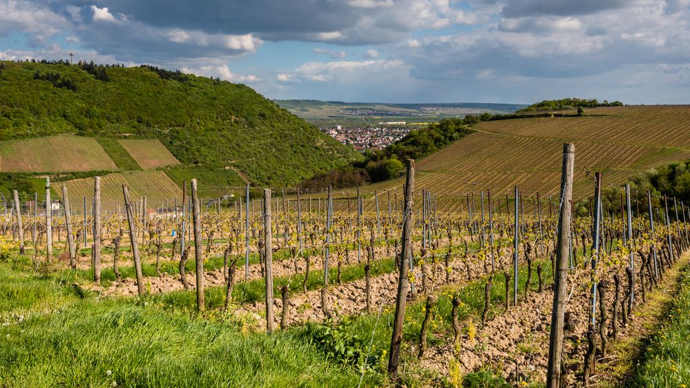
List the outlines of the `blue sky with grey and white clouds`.
<svg viewBox="0 0 690 388">
<path fill-rule="evenodd" d="M 271 99 L 690 103 L 690 0 L 0 0 L 0 59 L 70 50 Z"/>
</svg>

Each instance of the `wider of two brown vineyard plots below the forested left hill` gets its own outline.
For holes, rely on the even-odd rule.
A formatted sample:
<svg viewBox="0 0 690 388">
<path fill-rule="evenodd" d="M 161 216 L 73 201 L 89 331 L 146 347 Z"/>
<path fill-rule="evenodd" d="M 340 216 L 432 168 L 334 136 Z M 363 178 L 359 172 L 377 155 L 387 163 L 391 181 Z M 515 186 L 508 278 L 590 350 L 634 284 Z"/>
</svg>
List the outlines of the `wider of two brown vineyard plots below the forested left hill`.
<svg viewBox="0 0 690 388">
<path fill-rule="evenodd" d="M 55 173 L 117 171 L 115 162 L 90 137 L 56 135 L 0 142 L 0 171 Z"/>
</svg>

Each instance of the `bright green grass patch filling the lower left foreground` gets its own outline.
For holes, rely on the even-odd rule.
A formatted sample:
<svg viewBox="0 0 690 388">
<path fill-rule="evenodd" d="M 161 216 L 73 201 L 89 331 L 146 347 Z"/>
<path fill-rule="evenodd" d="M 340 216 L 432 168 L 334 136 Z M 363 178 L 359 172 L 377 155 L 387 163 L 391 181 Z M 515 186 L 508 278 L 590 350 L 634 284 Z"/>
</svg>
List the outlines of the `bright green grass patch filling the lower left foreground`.
<svg viewBox="0 0 690 388">
<path fill-rule="evenodd" d="M 253 332 L 131 300 L 99 300 L 59 276 L 0 264 L 0 387 L 352 387 L 359 375 L 294 328 Z M 367 374 L 364 386 L 381 386 Z"/>
</svg>

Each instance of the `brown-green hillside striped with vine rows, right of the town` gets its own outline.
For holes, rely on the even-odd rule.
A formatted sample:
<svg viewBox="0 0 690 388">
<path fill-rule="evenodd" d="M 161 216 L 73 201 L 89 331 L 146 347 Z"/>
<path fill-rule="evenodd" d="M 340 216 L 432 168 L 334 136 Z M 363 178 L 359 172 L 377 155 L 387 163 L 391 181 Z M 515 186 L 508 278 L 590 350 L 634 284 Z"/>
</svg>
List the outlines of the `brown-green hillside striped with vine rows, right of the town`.
<svg viewBox="0 0 690 388">
<path fill-rule="evenodd" d="M 557 195 L 562 145 L 575 144 L 575 199 L 591 195 L 593 172 L 604 186 L 660 164 L 690 158 L 690 106 L 587 109 L 584 117 L 482 122 L 477 132 L 417 162 L 416 187 L 445 196 L 490 188 L 510 195 Z M 401 180 L 372 185 L 384 190 Z"/>
</svg>

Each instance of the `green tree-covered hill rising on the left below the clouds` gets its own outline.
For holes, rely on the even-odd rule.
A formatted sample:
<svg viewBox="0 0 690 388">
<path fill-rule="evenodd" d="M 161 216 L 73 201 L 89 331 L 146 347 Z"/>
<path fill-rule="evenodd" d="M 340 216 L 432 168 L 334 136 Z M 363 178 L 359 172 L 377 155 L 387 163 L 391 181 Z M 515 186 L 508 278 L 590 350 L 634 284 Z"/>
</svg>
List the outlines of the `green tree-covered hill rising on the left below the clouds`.
<svg viewBox="0 0 690 388">
<path fill-rule="evenodd" d="M 157 138 L 187 166 L 295 184 L 359 156 L 248 86 L 151 66 L 0 61 L 0 140 Z"/>
</svg>

